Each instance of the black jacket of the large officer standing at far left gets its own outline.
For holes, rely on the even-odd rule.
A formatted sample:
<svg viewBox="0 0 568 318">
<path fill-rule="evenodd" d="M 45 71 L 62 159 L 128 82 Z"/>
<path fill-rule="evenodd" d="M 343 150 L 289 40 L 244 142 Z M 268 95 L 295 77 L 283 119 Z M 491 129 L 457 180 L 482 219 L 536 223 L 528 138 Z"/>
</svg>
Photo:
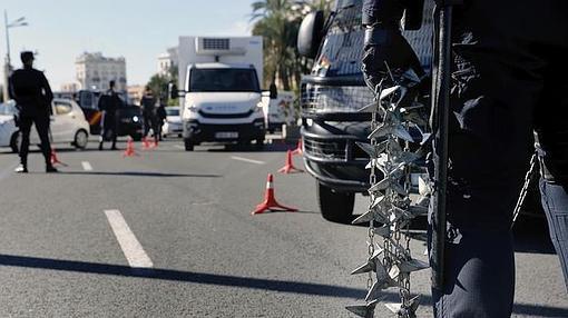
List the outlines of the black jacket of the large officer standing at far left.
<svg viewBox="0 0 568 318">
<path fill-rule="evenodd" d="M 49 116 L 53 93 L 43 72 L 25 68 L 9 80 L 10 98 L 16 100 L 20 116 Z"/>
</svg>

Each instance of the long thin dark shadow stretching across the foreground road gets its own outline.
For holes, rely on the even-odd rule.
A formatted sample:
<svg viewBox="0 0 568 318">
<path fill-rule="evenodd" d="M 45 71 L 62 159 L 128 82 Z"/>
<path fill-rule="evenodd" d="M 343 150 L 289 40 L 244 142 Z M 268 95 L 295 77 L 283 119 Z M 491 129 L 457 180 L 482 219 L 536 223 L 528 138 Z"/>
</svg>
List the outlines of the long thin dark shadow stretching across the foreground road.
<svg viewBox="0 0 568 318">
<path fill-rule="evenodd" d="M 139 269 L 120 265 L 108 265 L 99 262 L 85 262 L 75 260 L 60 260 L 50 258 L 0 255 L 0 266 L 22 267 L 33 269 L 47 269 L 58 271 L 72 271 L 96 275 L 110 275 L 133 278 L 158 279 L 169 281 L 193 282 L 200 285 L 215 285 L 227 287 L 239 287 L 251 289 L 272 290 L 278 292 L 291 292 L 301 295 L 313 295 L 324 297 L 346 297 L 361 299 L 365 290 L 351 287 L 342 287 L 324 284 L 298 282 L 288 280 L 263 279 L 253 277 L 237 277 L 218 274 L 205 274 L 193 271 L 180 271 L 172 269 Z M 385 291 L 385 301 L 398 301 L 399 294 Z M 432 298 L 422 296 L 422 304 L 431 306 Z M 568 308 L 538 306 L 528 304 L 516 304 L 513 314 L 531 317 L 568 317 Z"/>
</svg>

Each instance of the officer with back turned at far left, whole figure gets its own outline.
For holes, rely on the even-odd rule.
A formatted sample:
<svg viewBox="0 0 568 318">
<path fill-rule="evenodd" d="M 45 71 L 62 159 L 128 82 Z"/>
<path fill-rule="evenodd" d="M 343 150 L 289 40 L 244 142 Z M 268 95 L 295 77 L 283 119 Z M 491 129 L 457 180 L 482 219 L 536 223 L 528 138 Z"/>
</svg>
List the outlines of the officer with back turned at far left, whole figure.
<svg viewBox="0 0 568 318">
<path fill-rule="evenodd" d="M 46 159 L 46 172 L 57 172 L 51 165 L 51 145 L 49 143 L 49 117 L 52 112 L 53 93 L 43 72 L 33 69 L 33 53 L 20 54 L 23 68 L 12 73 L 9 80 L 10 98 L 16 100 L 19 110 L 19 128 L 21 132 L 20 166 L 16 172 L 28 172 L 28 151 L 30 146 L 31 125 L 36 125 L 41 152 Z"/>
</svg>

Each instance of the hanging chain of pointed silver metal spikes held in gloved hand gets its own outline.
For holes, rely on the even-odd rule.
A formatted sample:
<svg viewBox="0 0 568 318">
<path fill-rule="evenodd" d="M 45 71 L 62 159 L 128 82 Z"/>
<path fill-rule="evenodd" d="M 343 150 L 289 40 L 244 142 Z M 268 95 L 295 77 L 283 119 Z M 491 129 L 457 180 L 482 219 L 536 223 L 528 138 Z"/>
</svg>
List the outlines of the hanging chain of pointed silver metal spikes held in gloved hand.
<svg viewBox="0 0 568 318">
<path fill-rule="evenodd" d="M 429 267 L 428 264 L 412 258 L 409 246 L 411 220 L 428 212 L 427 200 L 421 198 L 421 203 L 417 206 L 412 205 L 409 198 L 410 167 L 422 157 L 421 152 L 410 151 L 409 145 L 421 145 L 427 137 L 414 139 L 409 130 L 412 126 L 409 119 L 419 121 L 420 118 L 415 112 L 421 105 L 414 101 L 411 92 L 411 88 L 418 83 L 417 77 L 401 74 L 400 82 L 405 82 L 405 86 L 395 85 L 383 89 L 378 93 L 374 103 L 361 109 L 373 115 L 370 142 L 358 142 L 371 158 L 366 166 L 371 170 L 370 205 L 368 211 L 353 220 L 353 223 L 370 223 L 370 256 L 352 275 L 366 274 L 370 278 L 365 302 L 347 306 L 346 309 L 364 318 L 374 317 L 378 302 L 384 299 L 383 290 L 389 288 L 399 289 L 401 302 L 384 304 L 386 308 L 398 317 L 415 317 L 420 296 L 411 298 L 410 274 Z M 378 121 L 379 118 L 382 122 Z M 423 122 L 425 121 L 422 120 L 419 125 Z M 378 180 L 378 171 L 383 173 L 382 180 Z M 380 223 L 376 228 L 375 222 Z M 382 248 L 375 248 L 374 236 L 382 238 Z"/>
</svg>

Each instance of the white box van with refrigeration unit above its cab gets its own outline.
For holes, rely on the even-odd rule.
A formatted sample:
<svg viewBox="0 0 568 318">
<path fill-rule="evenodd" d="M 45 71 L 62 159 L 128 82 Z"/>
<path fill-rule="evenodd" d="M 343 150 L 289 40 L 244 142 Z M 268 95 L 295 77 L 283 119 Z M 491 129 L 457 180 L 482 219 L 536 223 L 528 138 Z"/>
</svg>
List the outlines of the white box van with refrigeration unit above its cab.
<svg viewBox="0 0 568 318">
<path fill-rule="evenodd" d="M 182 37 L 178 47 L 185 149 L 207 141 L 263 147 L 262 37 Z"/>
</svg>

